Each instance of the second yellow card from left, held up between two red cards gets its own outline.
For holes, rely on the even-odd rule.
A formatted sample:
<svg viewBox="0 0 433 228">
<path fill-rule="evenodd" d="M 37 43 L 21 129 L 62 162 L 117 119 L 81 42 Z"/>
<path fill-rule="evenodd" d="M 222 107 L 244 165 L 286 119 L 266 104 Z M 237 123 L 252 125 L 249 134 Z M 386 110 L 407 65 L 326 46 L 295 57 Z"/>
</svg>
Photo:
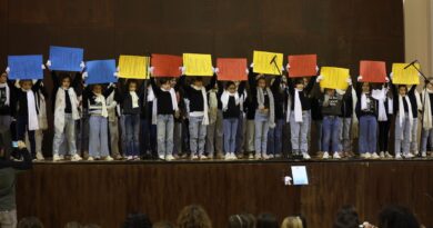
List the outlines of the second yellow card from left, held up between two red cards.
<svg viewBox="0 0 433 228">
<path fill-rule="evenodd" d="M 202 53 L 183 53 L 185 76 L 213 76 L 212 56 Z"/>
</svg>

